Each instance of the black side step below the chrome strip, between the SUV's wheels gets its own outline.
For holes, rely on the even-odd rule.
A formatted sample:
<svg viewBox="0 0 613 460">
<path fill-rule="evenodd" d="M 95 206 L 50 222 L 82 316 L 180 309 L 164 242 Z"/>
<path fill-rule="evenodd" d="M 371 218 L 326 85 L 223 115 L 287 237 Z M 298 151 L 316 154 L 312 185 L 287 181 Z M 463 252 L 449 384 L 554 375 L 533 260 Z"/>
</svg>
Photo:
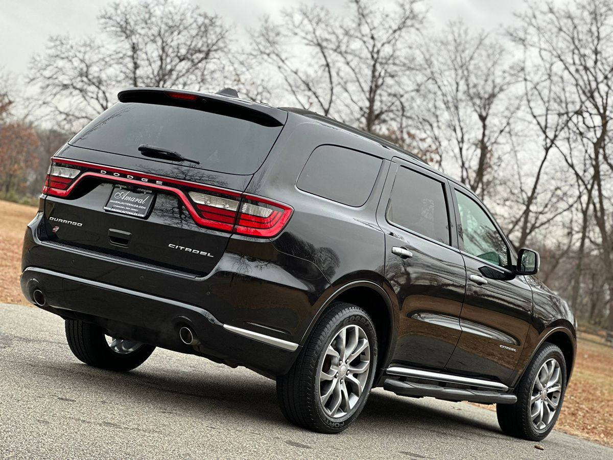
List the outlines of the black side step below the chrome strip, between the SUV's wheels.
<svg viewBox="0 0 613 460">
<path fill-rule="evenodd" d="M 428 385 L 427 383 L 413 383 L 387 378 L 383 389 L 392 391 L 400 396 L 424 397 L 431 396 L 446 401 L 470 401 L 482 404 L 515 404 L 517 396 L 512 393 L 499 393 L 498 391 L 479 391 L 476 389 L 448 388 L 445 386 Z"/>
</svg>

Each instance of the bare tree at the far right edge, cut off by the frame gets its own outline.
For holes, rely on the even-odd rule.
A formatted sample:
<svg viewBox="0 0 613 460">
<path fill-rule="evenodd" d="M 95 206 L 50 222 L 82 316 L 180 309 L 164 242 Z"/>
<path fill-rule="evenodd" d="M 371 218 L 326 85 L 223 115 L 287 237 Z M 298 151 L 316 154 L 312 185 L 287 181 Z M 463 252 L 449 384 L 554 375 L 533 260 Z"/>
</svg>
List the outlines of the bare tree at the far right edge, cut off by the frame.
<svg viewBox="0 0 613 460">
<path fill-rule="evenodd" d="M 593 179 L 592 215 L 599 231 L 609 304 L 609 331 L 613 333 L 613 222 L 611 184 L 613 158 L 607 151 L 609 122 L 613 115 L 613 4 L 583 0 L 574 5 L 532 3 L 518 16 L 525 46 L 558 67 L 577 109 L 574 128 L 588 150 L 579 149 L 588 161 L 577 160 L 574 148 L 561 148 L 576 177 L 590 190 Z"/>
</svg>

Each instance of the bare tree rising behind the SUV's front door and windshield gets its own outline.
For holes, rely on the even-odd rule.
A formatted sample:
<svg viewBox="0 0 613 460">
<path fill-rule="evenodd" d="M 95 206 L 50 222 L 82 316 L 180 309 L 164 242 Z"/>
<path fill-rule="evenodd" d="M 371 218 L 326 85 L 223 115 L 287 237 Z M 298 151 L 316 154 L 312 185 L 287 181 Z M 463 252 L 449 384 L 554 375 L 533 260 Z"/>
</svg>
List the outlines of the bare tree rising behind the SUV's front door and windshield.
<svg viewBox="0 0 613 460">
<path fill-rule="evenodd" d="M 520 107 L 520 94 L 511 91 L 509 56 L 495 37 L 471 34 L 462 22 L 428 39 L 421 52 L 428 84 L 419 94 L 425 106 L 415 117 L 425 134 L 417 148 L 438 150 L 440 166 L 458 171 L 463 183 L 484 196 L 499 160 L 495 150 Z"/>
</svg>

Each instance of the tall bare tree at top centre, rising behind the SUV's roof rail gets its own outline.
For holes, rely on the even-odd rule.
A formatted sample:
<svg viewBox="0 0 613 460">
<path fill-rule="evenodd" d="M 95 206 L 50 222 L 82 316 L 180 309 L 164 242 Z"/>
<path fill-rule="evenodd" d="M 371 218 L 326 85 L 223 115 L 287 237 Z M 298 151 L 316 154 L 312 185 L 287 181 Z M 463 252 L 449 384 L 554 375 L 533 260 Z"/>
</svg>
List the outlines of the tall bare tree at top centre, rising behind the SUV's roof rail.
<svg viewBox="0 0 613 460">
<path fill-rule="evenodd" d="M 303 109 L 368 132 L 402 134 L 414 67 L 410 39 L 424 18 L 419 3 L 390 9 L 352 0 L 345 17 L 325 7 L 283 10 L 280 22 L 264 18 L 251 34 L 253 53 L 278 72 Z"/>
</svg>

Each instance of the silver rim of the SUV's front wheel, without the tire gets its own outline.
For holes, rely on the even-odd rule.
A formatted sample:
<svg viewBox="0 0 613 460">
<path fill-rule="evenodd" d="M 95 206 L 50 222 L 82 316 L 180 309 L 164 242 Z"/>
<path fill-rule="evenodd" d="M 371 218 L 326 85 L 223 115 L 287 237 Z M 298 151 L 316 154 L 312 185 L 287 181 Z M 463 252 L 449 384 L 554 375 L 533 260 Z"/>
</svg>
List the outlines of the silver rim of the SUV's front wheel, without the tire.
<svg viewBox="0 0 613 460">
<path fill-rule="evenodd" d="M 562 370 L 560 363 L 547 359 L 536 374 L 530 397 L 530 418 L 538 431 L 543 431 L 554 420 L 562 397 Z"/>
</svg>

